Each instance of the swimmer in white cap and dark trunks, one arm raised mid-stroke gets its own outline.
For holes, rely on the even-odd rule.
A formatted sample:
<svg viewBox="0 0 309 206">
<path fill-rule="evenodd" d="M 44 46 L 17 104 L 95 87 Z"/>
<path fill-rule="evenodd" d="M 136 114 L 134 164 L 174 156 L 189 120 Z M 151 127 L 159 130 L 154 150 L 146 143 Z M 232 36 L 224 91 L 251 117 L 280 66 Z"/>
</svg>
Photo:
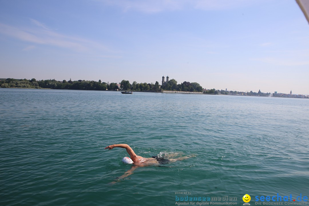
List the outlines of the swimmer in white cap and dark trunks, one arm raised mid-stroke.
<svg viewBox="0 0 309 206">
<path fill-rule="evenodd" d="M 187 159 L 187 158 L 190 158 L 190 157 L 195 157 L 195 155 L 193 154 L 191 156 L 185 156 L 185 157 L 180 157 L 180 158 L 176 158 L 176 159 L 175 158 L 174 159 L 167 159 L 167 158 L 170 158 L 170 157 L 174 157 L 178 154 L 181 154 L 181 153 L 174 153 L 174 154 L 167 155 L 167 158 L 161 158 L 161 157 L 158 157 L 158 156 L 153 156 L 151 158 L 144 158 L 144 157 L 136 155 L 135 152 L 133 151 L 133 149 L 127 144 L 109 145 L 109 146 L 105 147 L 104 149 L 113 149 L 115 147 L 125 148 L 127 150 L 128 154 L 130 155 L 130 158 L 124 157 L 124 158 L 122 158 L 122 162 L 127 163 L 127 164 L 133 164 L 133 166 L 132 166 L 131 169 L 126 171 L 125 174 L 116 178 L 115 181 L 109 183 L 110 185 L 112 185 L 116 182 L 119 182 L 121 179 L 128 177 L 130 174 L 133 174 L 133 171 L 138 167 L 150 166 L 150 165 L 159 166 L 160 164 L 167 164 L 169 162 L 176 162 L 177 160 L 184 160 L 184 159 Z"/>
</svg>

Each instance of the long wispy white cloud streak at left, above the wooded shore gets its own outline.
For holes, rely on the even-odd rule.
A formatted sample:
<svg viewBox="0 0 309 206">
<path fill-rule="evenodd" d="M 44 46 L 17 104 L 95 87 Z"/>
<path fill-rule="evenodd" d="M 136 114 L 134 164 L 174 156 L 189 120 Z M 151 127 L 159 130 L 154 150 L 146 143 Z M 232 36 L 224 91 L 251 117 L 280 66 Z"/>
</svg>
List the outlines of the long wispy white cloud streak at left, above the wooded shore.
<svg viewBox="0 0 309 206">
<path fill-rule="evenodd" d="M 30 19 L 30 21 L 36 27 L 14 27 L 0 23 L 0 33 L 21 41 L 68 48 L 75 52 L 110 51 L 98 42 L 57 33 L 35 19 Z"/>
</svg>

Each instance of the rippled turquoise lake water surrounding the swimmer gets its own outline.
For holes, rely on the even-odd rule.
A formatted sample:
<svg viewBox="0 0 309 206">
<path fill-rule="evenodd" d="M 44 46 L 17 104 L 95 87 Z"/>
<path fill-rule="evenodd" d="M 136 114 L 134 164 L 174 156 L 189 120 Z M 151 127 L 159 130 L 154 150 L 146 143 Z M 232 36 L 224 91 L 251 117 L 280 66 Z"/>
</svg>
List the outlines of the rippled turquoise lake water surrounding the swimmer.
<svg viewBox="0 0 309 206">
<path fill-rule="evenodd" d="M 251 205 L 256 195 L 309 196 L 308 99 L 0 94 L 0 205 L 175 205 L 175 192 L 186 191 L 237 197 L 238 205 L 245 194 Z M 121 162 L 125 149 L 104 150 L 120 143 L 143 157 L 196 157 L 139 167 L 110 184 L 132 167 Z"/>
</svg>

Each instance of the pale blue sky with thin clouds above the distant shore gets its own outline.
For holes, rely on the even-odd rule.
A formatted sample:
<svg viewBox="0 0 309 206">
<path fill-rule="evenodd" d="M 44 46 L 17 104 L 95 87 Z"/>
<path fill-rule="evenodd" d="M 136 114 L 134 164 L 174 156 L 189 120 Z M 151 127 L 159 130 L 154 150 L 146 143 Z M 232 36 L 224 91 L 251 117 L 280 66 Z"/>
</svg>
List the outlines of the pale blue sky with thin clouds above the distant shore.
<svg viewBox="0 0 309 206">
<path fill-rule="evenodd" d="M 0 78 L 309 95 L 295 0 L 0 0 Z"/>
</svg>

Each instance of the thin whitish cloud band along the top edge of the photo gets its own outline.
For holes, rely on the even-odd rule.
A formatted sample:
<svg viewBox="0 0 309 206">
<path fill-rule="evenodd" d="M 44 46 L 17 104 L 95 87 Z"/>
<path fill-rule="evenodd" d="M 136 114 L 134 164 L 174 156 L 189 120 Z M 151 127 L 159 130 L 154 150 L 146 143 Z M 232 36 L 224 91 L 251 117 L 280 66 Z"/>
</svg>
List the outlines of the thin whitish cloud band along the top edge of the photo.
<svg viewBox="0 0 309 206">
<path fill-rule="evenodd" d="M 243 7 L 258 3 L 258 0 L 94 0 L 104 5 L 118 6 L 124 11 L 137 10 L 145 13 L 182 10 L 222 10 Z"/>
</svg>

